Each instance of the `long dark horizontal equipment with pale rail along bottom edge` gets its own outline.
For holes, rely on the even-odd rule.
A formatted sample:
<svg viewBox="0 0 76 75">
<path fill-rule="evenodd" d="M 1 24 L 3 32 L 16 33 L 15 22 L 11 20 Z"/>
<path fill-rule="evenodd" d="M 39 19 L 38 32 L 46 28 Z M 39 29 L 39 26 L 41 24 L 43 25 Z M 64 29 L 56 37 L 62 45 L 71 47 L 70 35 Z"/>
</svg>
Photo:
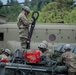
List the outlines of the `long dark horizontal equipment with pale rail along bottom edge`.
<svg viewBox="0 0 76 75">
<path fill-rule="evenodd" d="M 36 75 L 35 72 L 42 72 L 49 75 L 67 75 L 66 66 L 57 66 L 56 64 L 48 66 L 26 65 L 18 63 L 0 63 L 0 75 Z M 9 72 L 8 72 L 9 71 Z"/>
</svg>

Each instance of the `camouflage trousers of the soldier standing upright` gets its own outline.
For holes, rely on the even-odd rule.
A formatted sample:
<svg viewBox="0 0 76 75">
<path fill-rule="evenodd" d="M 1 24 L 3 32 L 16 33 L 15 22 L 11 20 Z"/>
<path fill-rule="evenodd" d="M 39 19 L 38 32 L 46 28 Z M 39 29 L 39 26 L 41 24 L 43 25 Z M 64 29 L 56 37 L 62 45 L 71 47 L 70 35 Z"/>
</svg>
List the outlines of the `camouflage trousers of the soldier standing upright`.
<svg viewBox="0 0 76 75">
<path fill-rule="evenodd" d="M 28 38 L 28 29 L 19 29 L 19 37 L 21 42 L 21 48 L 22 50 L 26 49 L 26 42 Z"/>
</svg>

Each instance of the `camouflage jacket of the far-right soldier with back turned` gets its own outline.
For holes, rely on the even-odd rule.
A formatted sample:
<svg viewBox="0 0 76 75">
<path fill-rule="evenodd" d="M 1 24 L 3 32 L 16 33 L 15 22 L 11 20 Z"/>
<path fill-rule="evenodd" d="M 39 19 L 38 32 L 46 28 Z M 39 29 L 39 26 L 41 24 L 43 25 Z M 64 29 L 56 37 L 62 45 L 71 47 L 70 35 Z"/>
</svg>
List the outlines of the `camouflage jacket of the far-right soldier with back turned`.
<svg viewBox="0 0 76 75">
<path fill-rule="evenodd" d="M 61 55 L 60 61 L 63 61 L 68 66 L 69 72 L 76 72 L 76 55 L 72 52 L 65 52 Z"/>
</svg>

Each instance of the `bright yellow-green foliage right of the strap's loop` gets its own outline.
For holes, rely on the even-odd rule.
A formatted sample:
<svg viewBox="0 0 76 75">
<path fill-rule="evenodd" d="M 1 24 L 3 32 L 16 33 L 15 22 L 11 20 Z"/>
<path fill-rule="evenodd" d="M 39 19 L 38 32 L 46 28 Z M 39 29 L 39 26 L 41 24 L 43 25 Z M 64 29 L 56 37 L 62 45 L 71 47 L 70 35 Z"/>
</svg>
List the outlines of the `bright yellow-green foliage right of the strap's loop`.
<svg viewBox="0 0 76 75">
<path fill-rule="evenodd" d="M 75 9 L 72 0 L 56 0 L 42 8 L 40 20 L 38 21 L 45 23 L 76 23 Z"/>
</svg>

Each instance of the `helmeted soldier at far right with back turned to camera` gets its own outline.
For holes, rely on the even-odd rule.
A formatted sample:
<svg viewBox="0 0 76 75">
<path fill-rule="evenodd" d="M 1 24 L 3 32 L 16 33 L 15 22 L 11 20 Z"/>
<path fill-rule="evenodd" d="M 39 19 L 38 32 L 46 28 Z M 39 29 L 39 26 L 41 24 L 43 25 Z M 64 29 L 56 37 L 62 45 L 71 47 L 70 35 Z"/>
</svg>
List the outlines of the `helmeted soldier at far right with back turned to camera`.
<svg viewBox="0 0 76 75">
<path fill-rule="evenodd" d="M 76 72 L 76 55 L 71 52 L 71 45 L 64 45 L 65 53 L 60 57 L 60 61 L 64 62 L 68 67 L 68 75 L 75 75 Z"/>
</svg>

